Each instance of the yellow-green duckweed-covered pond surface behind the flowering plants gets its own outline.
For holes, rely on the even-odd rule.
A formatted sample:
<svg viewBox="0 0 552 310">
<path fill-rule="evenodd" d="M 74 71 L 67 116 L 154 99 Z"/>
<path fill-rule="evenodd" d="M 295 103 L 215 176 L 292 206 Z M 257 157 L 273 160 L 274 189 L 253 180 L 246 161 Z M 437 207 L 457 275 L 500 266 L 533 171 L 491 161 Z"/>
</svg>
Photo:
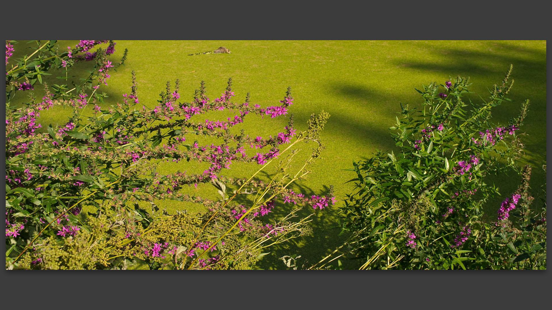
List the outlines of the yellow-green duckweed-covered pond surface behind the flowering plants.
<svg viewBox="0 0 552 310">
<path fill-rule="evenodd" d="M 331 114 L 322 139 L 327 147 L 323 159 L 310 169 L 315 173 L 309 179 L 293 187 L 306 195 L 322 194 L 327 186 L 333 185 L 338 203 L 317 215 L 311 222 L 314 236 L 297 238 L 290 243 L 274 247 L 272 253 L 264 256 L 259 266 L 264 269 L 283 269 L 279 257 L 298 254 L 309 263 L 316 263 L 323 256 L 341 245 L 345 235 L 338 236 L 337 205 L 343 204 L 346 194 L 353 190 L 353 161 L 369 158 L 377 149 L 391 150 L 394 143 L 388 128 L 395 122 L 400 111 L 399 103 L 417 106 L 420 95 L 414 88 L 436 81 L 444 84 L 449 77 L 470 76 L 474 83 L 472 100 L 488 97 L 487 88 L 502 80 L 512 63 L 512 78 L 515 83 L 506 103 L 493 111 L 493 121 L 505 124 L 516 116 L 519 104 L 531 100 L 526 124 L 522 131 L 526 144 L 522 163 L 533 165 L 533 189 L 545 182 L 542 167 L 546 158 L 546 41 L 118 41 L 112 55 L 113 62 L 129 49 L 128 61 L 111 73 L 108 86 L 103 91 L 110 95 L 109 103 L 122 101 L 121 95 L 130 93 L 131 71 L 135 70 L 140 103 L 148 108 L 157 105 L 158 94 L 167 81 L 180 80 L 181 101 L 193 99 L 195 89 L 201 80 L 206 82 L 207 95 L 216 98 L 232 77 L 236 97 L 245 99 L 251 93 L 251 103 L 261 106 L 277 105 L 285 90 L 291 87 L 294 105 L 289 113 L 295 115 L 295 126 L 306 129 L 310 114 L 321 110 Z M 59 41 L 62 49 L 75 46 L 77 41 Z M 17 55 L 24 44 L 15 45 Z M 107 46 L 107 45 L 106 45 Z M 208 54 L 188 56 L 196 52 L 215 50 L 219 46 L 229 49 L 231 54 Z M 103 46 L 104 47 L 104 46 Z M 27 53 L 30 54 L 30 53 Z M 70 75 L 83 76 L 89 63 L 78 64 Z M 54 76 L 65 73 L 50 72 Z M 50 84 L 62 80 L 46 79 Z M 102 88 L 100 88 L 102 90 Z M 35 85 L 35 94 L 43 94 L 40 85 Z M 24 99 L 24 93 L 17 94 L 17 102 Z M 87 107 L 91 112 L 91 107 Z M 70 109 L 57 109 L 41 113 L 40 121 L 61 125 L 67 121 Z M 84 113 L 87 115 L 87 113 Z M 214 119 L 214 114 L 205 117 Z M 218 116 L 218 115 L 216 115 Z M 220 114 L 222 116 L 222 114 Z M 203 117 L 203 116 L 202 116 Z M 224 119 L 226 116 L 224 116 Z M 246 117 L 246 133 L 267 137 L 283 131 L 287 119 L 250 115 Z M 242 127 L 239 127 L 242 128 Z M 187 137 L 193 143 L 195 137 Z M 304 153 L 310 152 L 310 147 Z M 163 163 L 160 173 L 177 170 L 193 172 L 198 168 L 190 163 Z M 203 166 L 202 166 L 203 168 Z M 232 164 L 225 174 L 231 177 L 249 177 L 258 167 Z M 203 170 L 203 169 L 201 169 Z M 270 173 L 270 169 L 267 170 Z M 519 183 L 518 178 L 497 180 L 501 193 L 511 193 Z M 216 198 L 211 185 L 193 187 L 189 191 Z M 500 206 L 496 199 L 496 209 Z M 160 202 L 169 210 L 187 208 L 198 211 L 197 206 L 177 204 L 174 201 Z M 312 210 L 305 210 L 305 214 Z"/>
</svg>

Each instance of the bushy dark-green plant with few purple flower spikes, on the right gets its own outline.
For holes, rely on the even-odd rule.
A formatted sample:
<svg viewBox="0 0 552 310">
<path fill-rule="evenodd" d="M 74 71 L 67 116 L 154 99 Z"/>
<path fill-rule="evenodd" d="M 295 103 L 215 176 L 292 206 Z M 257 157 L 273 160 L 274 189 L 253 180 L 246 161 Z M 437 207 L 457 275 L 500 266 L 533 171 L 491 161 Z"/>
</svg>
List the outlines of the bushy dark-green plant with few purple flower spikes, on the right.
<svg viewBox="0 0 552 310">
<path fill-rule="evenodd" d="M 529 100 L 508 126 L 491 124 L 491 108 L 511 101 L 511 72 L 482 103 L 464 102 L 469 78 L 416 89 L 421 107 L 401 105 L 390 128 L 399 151 L 351 169 L 356 190 L 341 208 L 351 238 L 314 268 L 345 256 L 360 269 L 545 269 L 545 192 L 534 200 L 531 167 L 516 164 Z M 486 203 L 499 193 L 486 177 L 508 168 L 521 185 L 490 216 Z"/>
</svg>

